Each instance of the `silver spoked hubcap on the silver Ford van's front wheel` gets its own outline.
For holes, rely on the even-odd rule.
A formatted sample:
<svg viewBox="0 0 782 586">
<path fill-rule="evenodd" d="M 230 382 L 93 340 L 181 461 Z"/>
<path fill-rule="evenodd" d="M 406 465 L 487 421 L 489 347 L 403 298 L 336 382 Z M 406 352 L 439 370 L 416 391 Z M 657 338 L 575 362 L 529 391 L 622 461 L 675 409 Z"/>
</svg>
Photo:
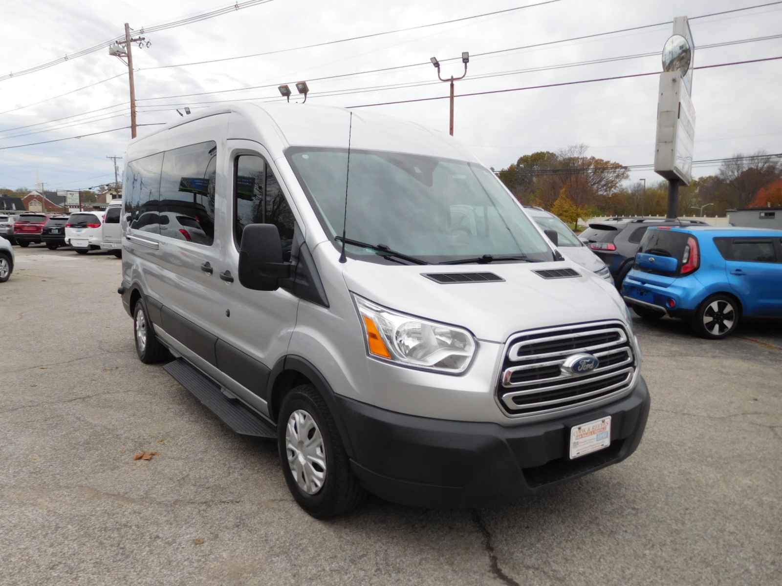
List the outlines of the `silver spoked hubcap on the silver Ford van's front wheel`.
<svg viewBox="0 0 782 586">
<path fill-rule="evenodd" d="M 307 495 L 321 490 L 326 480 L 326 452 L 321 430 L 307 411 L 296 409 L 288 418 L 285 451 L 299 488 Z"/>
</svg>

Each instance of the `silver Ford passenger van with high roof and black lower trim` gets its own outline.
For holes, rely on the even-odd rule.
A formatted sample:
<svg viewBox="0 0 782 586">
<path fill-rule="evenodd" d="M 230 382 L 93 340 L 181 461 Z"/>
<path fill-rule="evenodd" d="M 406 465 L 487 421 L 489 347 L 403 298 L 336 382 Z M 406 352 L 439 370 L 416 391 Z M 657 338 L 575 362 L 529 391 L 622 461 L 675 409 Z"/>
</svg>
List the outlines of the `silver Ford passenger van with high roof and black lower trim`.
<svg viewBox="0 0 782 586">
<path fill-rule="evenodd" d="M 447 134 L 239 105 L 124 160 L 138 357 L 277 441 L 310 515 L 367 491 L 504 502 L 637 448 L 650 403 L 622 299 Z"/>
</svg>

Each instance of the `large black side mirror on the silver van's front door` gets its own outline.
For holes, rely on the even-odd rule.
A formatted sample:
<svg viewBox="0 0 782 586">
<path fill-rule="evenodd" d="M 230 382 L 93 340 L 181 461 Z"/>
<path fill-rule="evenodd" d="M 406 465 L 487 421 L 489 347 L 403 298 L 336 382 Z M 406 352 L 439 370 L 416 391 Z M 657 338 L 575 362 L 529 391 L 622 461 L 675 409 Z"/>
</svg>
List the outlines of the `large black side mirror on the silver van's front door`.
<svg viewBox="0 0 782 586">
<path fill-rule="evenodd" d="M 242 230 L 239 245 L 239 283 L 254 291 L 276 291 L 278 280 L 290 277 L 291 264 L 282 262 L 280 232 L 272 223 L 252 223 Z"/>
</svg>

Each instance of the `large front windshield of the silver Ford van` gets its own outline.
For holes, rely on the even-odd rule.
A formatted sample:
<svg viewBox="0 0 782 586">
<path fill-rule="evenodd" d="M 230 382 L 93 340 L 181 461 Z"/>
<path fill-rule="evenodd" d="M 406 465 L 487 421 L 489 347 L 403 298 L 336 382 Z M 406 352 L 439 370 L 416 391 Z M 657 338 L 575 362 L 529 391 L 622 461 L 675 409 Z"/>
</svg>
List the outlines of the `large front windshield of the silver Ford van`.
<svg viewBox="0 0 782 586">
<path fill-rule="evenodd" d="M 326 234 L 427 263 L 548 261 L 553 252 L 493 174 L 475 163 L 398 152 L 292 147 L 285 152 Z M 335 241 L 339 247 L 339 242 Z M 346 246 L 353 258 L 382 251 Z"/>
</svg>

